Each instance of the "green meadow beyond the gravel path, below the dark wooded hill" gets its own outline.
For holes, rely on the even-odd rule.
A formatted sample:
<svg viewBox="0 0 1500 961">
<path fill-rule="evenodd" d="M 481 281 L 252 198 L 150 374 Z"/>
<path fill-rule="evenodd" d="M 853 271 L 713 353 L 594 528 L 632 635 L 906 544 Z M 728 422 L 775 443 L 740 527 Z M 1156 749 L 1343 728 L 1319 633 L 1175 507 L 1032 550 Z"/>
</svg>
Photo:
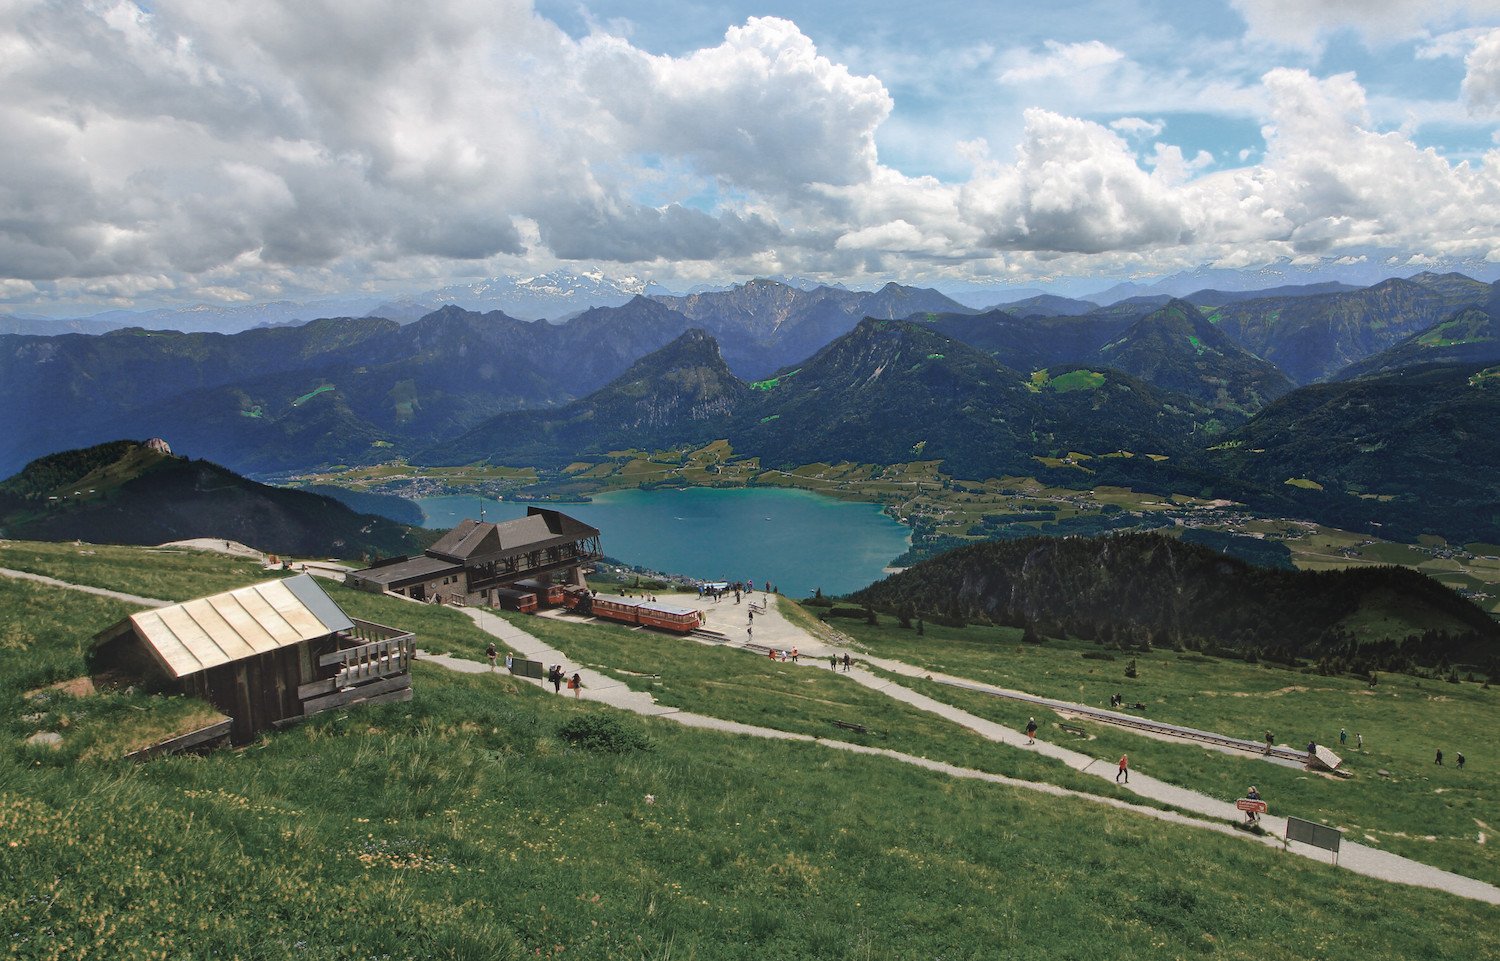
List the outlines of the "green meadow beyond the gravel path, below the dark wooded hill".
<svg viewBox="0 0 1500 961">
<path fill-rule="evenodd" d="M 1152 720 L 1250 741 L 1270 730 L 1276 744 L 1298 748 L 1308 741 L 1329 745 L 1350 777 L 1322 777 L 1108 724 L 1084 724 L 1088 741 L 1044 729 L 1048 738 L 1102 760 L 1128 753 L 1137 769 L 1210 796 L 1239 798 L 1256 784 L 1276 814 L 1335 825 L 1350 840 L 1500 883 L 1500 846 L 1494 843 L 1500 691 L 1407 675 L 1378 675 L 1371 688 L 1358 678 L 1173 651 L 1112 651 L 1114 660 L 1101 661 L 1083 657 L 1102 652 L 1086 640 L 1022 645 L 1022 631 L 1014 628 L 932 624 L 918 636 L 890 618 L 879 621 L 878 627 L 838 622 L 838 630 L 872 654 L 1030 694 L 1107 708 L 1110 694 L 1120 693 L 1125 703 L 1144 703 L 1146 711 L 1137 714 Z M 1137 678 L 1125 676 L 1131 660 Z M 1035 714 L 1020 702 L 940 684 L 902 684 L 1017 729 Z M 1347 744 L 1340 744 L 1340 729 Z M 1362 751 L 1356 733 L 1364 736 Z M 1446 756 L 1442 768 L 1432 763 L 1438 748 Z M 1455 768 L 1460 751 L 1467 757 L 1464 771 Z"/>
</svg>

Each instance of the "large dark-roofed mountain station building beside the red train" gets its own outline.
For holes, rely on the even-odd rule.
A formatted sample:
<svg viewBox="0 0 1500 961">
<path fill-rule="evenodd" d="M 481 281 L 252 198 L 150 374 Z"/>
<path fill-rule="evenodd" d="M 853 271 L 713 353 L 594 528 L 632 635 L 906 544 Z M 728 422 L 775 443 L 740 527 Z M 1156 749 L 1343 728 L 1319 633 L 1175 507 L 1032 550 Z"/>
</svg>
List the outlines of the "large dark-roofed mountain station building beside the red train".
<svg viewBox="0 0 1500 961">
<path fill-rule="evenodd" d="M 584 586 L 602 556 L 598 528 L 561 511 L 531 507 L 525 517 L 464 520 L 416 558 L 386 558 L 345 574 L 344 583 L 447 604 L 498 606 L 518 580 Z"/>
</svg>

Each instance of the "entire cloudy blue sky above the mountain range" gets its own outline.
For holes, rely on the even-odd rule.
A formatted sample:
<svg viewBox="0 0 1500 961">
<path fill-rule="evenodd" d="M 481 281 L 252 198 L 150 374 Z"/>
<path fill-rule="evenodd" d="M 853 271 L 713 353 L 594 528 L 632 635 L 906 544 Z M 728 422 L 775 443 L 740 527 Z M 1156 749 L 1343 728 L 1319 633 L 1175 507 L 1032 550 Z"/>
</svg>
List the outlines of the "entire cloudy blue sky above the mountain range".
<svg viewBox="0 0 1500 961">
<path fill-rule="evenodd" d="M 0 0 L 0 312 L 1500 261 L 1500 0 Z"/>
</svg>

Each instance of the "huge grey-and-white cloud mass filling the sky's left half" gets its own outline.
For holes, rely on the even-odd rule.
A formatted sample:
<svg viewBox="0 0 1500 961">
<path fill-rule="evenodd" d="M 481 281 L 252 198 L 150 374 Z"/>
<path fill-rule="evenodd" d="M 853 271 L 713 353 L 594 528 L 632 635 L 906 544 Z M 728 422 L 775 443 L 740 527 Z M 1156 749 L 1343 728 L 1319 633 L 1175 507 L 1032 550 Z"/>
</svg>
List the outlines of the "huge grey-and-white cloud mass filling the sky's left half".
<svg viewBox="0 0 1500 961">
<path fill-rule="evenodd" d="M 0 274 L 264 289 L 528 255 L 716 258 L 783 238 L 747 193 L 872 178 L 879 81 L 750 19 L 686 57 L 522 0 L 126 0 L 0 13 Z M 700 210 L 634 195 L 688 169 Z M 740 199 L 736 199 L 740 198 Z M 682 198 L 684 201 L 687 198 Z"/>
</svg>

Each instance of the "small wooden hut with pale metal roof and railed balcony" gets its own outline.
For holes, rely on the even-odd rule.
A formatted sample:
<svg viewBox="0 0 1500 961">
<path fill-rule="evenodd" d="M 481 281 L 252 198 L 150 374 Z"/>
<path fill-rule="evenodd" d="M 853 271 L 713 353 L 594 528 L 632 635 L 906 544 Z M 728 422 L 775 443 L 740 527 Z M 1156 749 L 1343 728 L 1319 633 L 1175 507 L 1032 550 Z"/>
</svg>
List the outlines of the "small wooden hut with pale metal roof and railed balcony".
<svg viewBox="0 0 1500 961">
<path fill-rule="evenodd" d="M 90 669 L 202 697 L 246 744 L 352 703 L 411 700 L 412 636 L 350 618 L 309 574 L 142 610 L 94 636 Z"/>
</svg>

